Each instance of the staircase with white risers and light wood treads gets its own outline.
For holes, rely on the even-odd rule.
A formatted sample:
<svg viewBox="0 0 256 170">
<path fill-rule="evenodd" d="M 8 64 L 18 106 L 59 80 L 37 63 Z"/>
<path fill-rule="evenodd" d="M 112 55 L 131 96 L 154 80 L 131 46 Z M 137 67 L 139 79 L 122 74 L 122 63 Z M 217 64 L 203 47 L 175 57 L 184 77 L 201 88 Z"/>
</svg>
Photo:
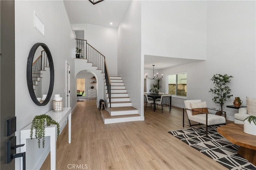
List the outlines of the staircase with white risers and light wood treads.
<svg viewBox="0 0 256 170">
<path fill-rule="evenodd" d="M 110 76 L 111 81 L 111 107 L 109 98 L 107 98 L 107 110 L 101 111 L 101 117 L 104 124 L 119 123 L 128 121 L 140 121 L 138 109 L 132 107 L 132 102 L 124 86 L 122 77 Z M 105 83 L 105 92 L 108 96 L 108 90 Z"/>
</svg>

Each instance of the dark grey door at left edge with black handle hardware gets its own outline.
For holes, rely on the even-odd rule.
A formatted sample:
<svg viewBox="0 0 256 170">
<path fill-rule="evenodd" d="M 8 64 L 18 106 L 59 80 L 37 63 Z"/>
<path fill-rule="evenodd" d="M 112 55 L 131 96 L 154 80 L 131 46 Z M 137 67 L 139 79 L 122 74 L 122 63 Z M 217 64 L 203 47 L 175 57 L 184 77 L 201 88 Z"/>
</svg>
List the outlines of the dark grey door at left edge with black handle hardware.
<svg viewBox="0 0 256 170">
<path fill-rule="evenodd" d="M 15 116 L 15 21 L 14 0 L 0 1 L 0 147 L 3 170 L 14 170 L 15 159 L 7 164 L 6 120 Z M 17 120 L 18 122 L 18 120 Z"/>
</svg>

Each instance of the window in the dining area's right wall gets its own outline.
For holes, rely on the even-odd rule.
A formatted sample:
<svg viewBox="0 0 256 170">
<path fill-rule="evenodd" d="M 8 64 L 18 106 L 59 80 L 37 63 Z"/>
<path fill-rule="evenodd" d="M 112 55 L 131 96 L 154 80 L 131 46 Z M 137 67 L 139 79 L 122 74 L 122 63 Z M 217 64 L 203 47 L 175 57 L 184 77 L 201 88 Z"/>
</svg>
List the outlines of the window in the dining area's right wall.
<svg viewBox="0 0 256 170">
<path fill-rule="evenodd" d="M 169 94 L 187 96 L 187 73 L 168 75 L 167 79 Z"/>
</svg>

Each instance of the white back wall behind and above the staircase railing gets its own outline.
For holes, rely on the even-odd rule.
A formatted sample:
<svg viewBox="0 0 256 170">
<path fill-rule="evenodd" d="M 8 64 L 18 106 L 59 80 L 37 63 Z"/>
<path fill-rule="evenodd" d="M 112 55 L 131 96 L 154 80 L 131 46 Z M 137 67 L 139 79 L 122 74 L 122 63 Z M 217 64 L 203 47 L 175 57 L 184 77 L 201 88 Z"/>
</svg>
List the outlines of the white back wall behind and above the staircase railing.
<svg viewBox="0 0 256 170">
<path fill-rule="evenodd" d="M 106 57 L 108 72 L 117 75 L 117 29 L 92 24 L 72 24 L 73 30 L 84 30 L 84 39 Z"/>
</svg>

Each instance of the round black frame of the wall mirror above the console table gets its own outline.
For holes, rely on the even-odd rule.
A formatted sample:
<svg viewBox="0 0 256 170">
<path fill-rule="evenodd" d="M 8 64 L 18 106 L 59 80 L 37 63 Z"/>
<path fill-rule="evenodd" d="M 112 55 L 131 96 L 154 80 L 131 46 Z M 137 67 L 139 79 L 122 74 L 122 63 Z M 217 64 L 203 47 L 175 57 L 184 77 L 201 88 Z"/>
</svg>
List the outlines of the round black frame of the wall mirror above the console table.
<svg viewBox="0 0 256 170">
<path fill-rule="evenodd" d="M 36 53 L 36 49 L 39 46 L 41 46 L 44 49 L 44 51 L 46 52 L 46 55 L 47 55 L 47 58 L 49 61 L 49 67 L 50 67 L 49 90 L 48 90 L 46 99 L 42 103 L 40 103 L 36 98 L 36 94 L 34 92 L 33 82 L 32 82 L 32 63 L 33 63 L 34 55 Z M 33 47 L 31 48 L 31 50 L 29 52 L 28 64 L 27 64 L 27 84 L 28 84 L 28 91 L 29 91 L 30 97 L 36 105 L 45 106 L 46 104 L 48 104 L 48 102 L 50 101 L 50 99 L 52 97 L 52 91 L 53 91 L 53 86 L 54 86 L 54 66 L 53 66 L 53 61 L 52 61 L 52 54 L 51 54 L 49 48 L 47 47 L 47 45 L 44 43 L 36 43 L 35 45 L 33 45 Z"/>
</svg>

